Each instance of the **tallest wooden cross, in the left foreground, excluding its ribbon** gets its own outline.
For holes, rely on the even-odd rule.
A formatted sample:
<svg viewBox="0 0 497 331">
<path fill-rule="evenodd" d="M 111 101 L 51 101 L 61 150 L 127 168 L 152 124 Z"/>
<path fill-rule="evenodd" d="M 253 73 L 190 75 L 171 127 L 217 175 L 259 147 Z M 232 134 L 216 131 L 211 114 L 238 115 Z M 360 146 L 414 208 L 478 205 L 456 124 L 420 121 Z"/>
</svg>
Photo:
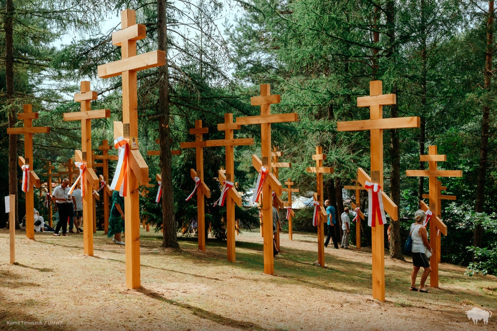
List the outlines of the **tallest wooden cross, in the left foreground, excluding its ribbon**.
<svg viewBox="0 0 497 331">
<path fill-rule="evenodd" d="M 121 11 L 121 30 L 112 33 L 112 44 L 121 47 L 121 60 L 98 66 L 98 77 L 122 76 L 123 123 L 114 122 L 114 138 L 138 139 L 137 72 L 166 64 L 164 51 L 136 55 L 136 41 L 146 37 L 146 27 L 136 24 L 136 12 Z M 126 286 L 140 285 L 140 201 L 139 184 L 148 183 L 149 167 L 138 149 L 128 156 L 128 192 L 124 198 L 126 227 Z"/>
</svg>

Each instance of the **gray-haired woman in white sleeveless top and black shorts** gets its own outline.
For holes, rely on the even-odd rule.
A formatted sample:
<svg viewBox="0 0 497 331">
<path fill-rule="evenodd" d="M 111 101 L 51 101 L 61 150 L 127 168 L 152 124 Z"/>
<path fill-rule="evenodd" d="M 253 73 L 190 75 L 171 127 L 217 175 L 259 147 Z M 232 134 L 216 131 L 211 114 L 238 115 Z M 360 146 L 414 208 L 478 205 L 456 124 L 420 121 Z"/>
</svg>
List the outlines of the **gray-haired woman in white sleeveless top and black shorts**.
<svg viewBox="0 0 497 331">
<path fill-rule="evenodd" d="M 413 272 L 411 273 L 411 289 L 413 291 L 419 291 L 427 293 L 428 290 L 424 287 L 424 282 L 431 272 L 430 263 L 425 255 L 426 250 L 430 253 L 431 247 L 428 242 L 428 232 L 423 226 L 423 221 L 426 218 L 426 214 L 421 209 L 418 209 L 414 213 L 415 222 L 411 225 L 411 238 L 413 240 L 413 246 L 411 253 L 413 255 Z M 420 267 L 424 268 L 424 272 L 421 274 L 421 280 L 419 282 L 419 288 L 416 287 L 416 277 L 417 272 Z"/>
</svg>

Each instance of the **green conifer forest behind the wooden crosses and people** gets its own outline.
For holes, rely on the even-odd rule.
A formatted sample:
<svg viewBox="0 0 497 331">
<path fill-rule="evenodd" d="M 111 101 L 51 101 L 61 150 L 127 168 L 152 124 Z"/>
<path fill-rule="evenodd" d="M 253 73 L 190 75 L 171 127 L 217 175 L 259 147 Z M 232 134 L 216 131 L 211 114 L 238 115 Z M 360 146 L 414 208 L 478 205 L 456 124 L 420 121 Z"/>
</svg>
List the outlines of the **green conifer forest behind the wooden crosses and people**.
<svg viewBox="0 0 497 331">
<path fill-rule="evenodd" d="M 369 169 L 369 132 L 337 132 L 336 122 L 369 118 L 356 98 L 369 94 L 369 81 L 382 80 L 383 93 L 397 94 L 397 105 L 384 107 L 384 117 L 419 116 L 419 129 L 384 133 L 384 190 L 400 208 L 400 222 L 392 223 L 390 255 L 403 259 L 401 246 L 408 235 L 419 199 L 428 181 L 405 176 L 408 169 L 425 169 L 419 154 L 437 145 L 447 154 L 440 169 L 463 170 L 463 178 L 443 178 L 442 203 L 448 236 L 442 236 L 442 262 L 469 265 L 473 272 L 497 272 L 496 183 L 496 43 L 494 1 L 477 0 L 0 0 L 0 192 L 20 192 L 17 155 L 23 155 L 23 136 L 8 136 L 8 127 L 21 126 L 16 114 L 33 104 L 40 117 L 34 126 L 50 126 L 49 134 L 34 135 L 34 170 L 40 174 L 50 161 L 56 170 L 81 148 L 79 123 L 64 122 L 62 114 L 78 111 L 72 94 L 79 81 L 90 80 L 98 100 L 92 109 L 111 110 L 110 119 L 92 123 L 93 149 L 102 139 L 112 141 L 112 121 L 122 120 L 121 79 L 97 78 L 97 66 L 120 59 L 111 33 L 99 23 L 125 8 L 137 10 L 137 23 L 147 27 L 138 53 L 167 52 L 166 66 L 138 73 L 140 151 L 155 184 L 163 174 L 164 194 L 155 203 L 157 186 L 141 198 L 142 215 L 160 229 L 164 247 L 177 247 L 178 229 L 188 230 L 196 218 L 196 204 L 184 201 L 193 188 L 189 169 L 195 153 L 172 156 L 180 141 L 192 141 L 188 129 L 203 120 L 207 139 L 224 138 L 217 124 L 225 113 L 259 113 L 250 97 L 259 84 L 271 84 L 281 94 L 273 113 L 297 112 L 299 122 L 272 125 L 272 142 L 284 154 L 289 169 L 280 179 L 292 178 L 301 194 L 315 190 L 312 166 L 315 146 L 328 155 L 325 199 L 343 211 L 344 185 L 351 185 L 357 167 Z M 227 10 L 237 12 L 224 20 Z M 60 37 L 68 31 L 84 35 L 68 45 Z M 254 146 L 235 148 L 235 178 L 241 192 L 253 188 L 253 153 L 260 154 L 260 131 L 242 127 L 237 137 L 253 137 Z M 156 143 L 156 139 L 160 143 Z M 170 139 L 172 139 L 170 142 Z M 115 153 L 112 152 L 111 153 Z M 220 193 L 218 169 L 224 166 L 222 148 L 204 149 L 205 181 L 212 191 L 206 222 L 218 240 L 226 238 L 224 208 L 213 207 Z M 110 163 L 110 176 L 115 163 Z M 8 171 L 7 171 L 8 169 Z M 101 169 L 97 169 L 97 174 Z M 42 180 L 44 178 L 40 176 Z M 283 182 L 283 180 L 282 180 Z M 35 191 L 37 193 L 37 191 Z M 353 199 L 353 192 L 348 194 Z M 38 197 L 38 194 L 35 194 Z M 23 195 L 17 195 L 22 218 Z M 286 197 L 283 197 L 285 199 Z M 361 197 L 365 210 L 366 195 Z M 35 201 L 43 208 L 44 198 Z M 101 208 L 101 202 L 97 205 Z M 97 210 L 98 211 L 98 210 Z M 102 213 L 99 223 L 102 223 Z M 238 208 L 246 228 L 258 227 L 255 208 Z M 5 220 L 5 214 L 0 220 Z M 297 213 L 296 229 L 313 231 L 310 211 Z M 370 228 L 363 221 L 363 245 L 370 244 Z M 337 232 L 339 228 L 335 227 Z M 354 231 L 352 231 L 353 233 Z M 185 235 L 190 235 L 186 231 Z M 193 234 L 195 235 L 195 234 Z M 352 238 L 352 240 L 355 240 Z"/>
</svg>

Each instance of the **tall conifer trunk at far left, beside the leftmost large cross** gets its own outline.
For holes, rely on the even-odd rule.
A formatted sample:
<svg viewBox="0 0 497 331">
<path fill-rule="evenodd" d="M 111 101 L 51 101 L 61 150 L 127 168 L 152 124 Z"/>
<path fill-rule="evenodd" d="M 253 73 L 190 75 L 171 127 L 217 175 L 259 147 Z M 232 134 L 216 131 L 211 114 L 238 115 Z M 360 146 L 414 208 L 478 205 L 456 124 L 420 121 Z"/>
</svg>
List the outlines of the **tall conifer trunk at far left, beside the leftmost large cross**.
<svg viewBox="0 0 497 331">
<path fill-rule="evenodd" d="M 12 0 L 5 2 L 5 83 L 7 89 L 8 127 L 13 128 L 17 122 L 15 107 L 12 107 L 14 97 L 14 30 L 13 30 L 14 4 Z M 8 137 L 8 194 L 15 195 L 15 214 L 19 215 L 17 208 L 17 134 Z M 15 227 L 19 229 L 19 222 Z"/>
</svg>

